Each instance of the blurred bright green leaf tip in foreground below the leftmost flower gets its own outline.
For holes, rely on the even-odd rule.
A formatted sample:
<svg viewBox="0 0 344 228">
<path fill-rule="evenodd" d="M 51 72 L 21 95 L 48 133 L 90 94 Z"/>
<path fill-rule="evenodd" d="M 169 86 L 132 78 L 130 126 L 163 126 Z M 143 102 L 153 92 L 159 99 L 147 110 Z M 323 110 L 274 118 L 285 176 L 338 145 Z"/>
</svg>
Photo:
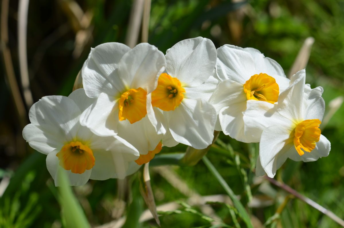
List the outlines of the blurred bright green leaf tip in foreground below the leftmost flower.
<svg viewBox="0 0 344 228">
<path fill-rule="evenodd" d="M 68 177 L 61 167 L 58 168 L 58 180 L 60 183 L 60 205 L 62 209 L 62 221 L 67 228 L 90 227 L 82 207 L 69 186 Z"/>
</svg>

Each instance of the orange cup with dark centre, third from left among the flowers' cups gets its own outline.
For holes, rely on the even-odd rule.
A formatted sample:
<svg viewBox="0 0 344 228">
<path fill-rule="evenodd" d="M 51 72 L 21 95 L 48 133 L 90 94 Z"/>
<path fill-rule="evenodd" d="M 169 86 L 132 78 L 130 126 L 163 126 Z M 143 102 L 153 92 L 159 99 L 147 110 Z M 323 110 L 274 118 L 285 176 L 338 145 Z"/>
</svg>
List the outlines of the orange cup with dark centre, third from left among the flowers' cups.
<svg viewBox="0 0 344 228">
<path fill-rule="evenodd" d="M 152 92 L 152 105 L 163 111 L 171 111 L 182 103 L 185 89 L 180 81 L 166 73 L 158 79 L 158 86 Z"/>
</svg>

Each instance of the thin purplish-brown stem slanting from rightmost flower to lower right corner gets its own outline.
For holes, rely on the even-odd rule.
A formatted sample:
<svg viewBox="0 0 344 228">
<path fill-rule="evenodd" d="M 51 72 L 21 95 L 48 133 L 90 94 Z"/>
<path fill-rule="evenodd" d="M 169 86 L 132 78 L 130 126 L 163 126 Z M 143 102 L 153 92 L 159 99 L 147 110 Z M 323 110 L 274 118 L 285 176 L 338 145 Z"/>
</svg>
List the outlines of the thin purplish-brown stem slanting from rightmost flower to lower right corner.
<svg viewBox="0 0 344 228">
<path fill-rule="evenodd" d="M 310 205 L 311 207 L 314 207 L 315 209 L 319 210 L 324 215 L 329 216 L 333 221 L 337 222 L 339 225 L 344 227 L 344 220 L 342 220 L 340 217 L 336 216 L 332 211 L 327 210 L 326 208 L 317 204 L 316 202 L 314 202 L 310 198 L 308 198 L 304 195 L 301 195 L 300 193 L 298 193 L 298 191 L 292 189 L 291 187 L 289 187 L 288 185 L 286 185 L 284 183 L 280 183 L 277 180 L 270 178 L 268 176 L 264 176 L 264 178 L 269 180 L 270 183 L 276 185 L 277 187 L 282 188 L 284 191 L 287 191 L 288 193 L 292 194 L 293 196 L 301 199 L 303 202 Z"/>
</svg>

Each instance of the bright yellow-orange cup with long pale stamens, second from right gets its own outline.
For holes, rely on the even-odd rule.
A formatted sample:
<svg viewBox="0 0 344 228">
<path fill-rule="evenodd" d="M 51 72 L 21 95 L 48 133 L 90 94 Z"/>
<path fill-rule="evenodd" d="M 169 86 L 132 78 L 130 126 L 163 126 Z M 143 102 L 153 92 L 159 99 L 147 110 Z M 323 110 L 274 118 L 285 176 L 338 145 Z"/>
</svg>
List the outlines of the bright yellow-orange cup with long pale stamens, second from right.
<svg viewBox="0 0 344 228">
<path fill-rule="evenodd" d="M 267 74 L 255 74 L 244 84 L 247 100 L 277 102 L 279 87 L 276 80 Z"/>
</svg>

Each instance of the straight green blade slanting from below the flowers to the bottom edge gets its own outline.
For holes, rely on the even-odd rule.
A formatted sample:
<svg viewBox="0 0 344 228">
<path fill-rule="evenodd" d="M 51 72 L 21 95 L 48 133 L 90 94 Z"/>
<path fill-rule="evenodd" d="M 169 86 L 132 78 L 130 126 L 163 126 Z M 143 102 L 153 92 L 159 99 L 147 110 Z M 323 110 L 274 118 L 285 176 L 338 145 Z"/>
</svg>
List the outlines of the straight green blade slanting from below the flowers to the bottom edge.
<svg viewBox="0 0 344 228">
<path fill-rule="evenodd" d="M 223 177 L 217 172 L 214 165 L 209 161 L 209 159 L 206 156 L 203 156 L 202 158 L 204 164 L 207 166 L 209 171 L 214 175 L 214 177 L 217 179 L 217 181 L 220 183 L 220 185 L 224 188 L 230 199 L 232 199 L 233 204 L 235 208 L 238 210 L 239 216 L 244 220 L 245 224 L 249 228 L 253 228 L 251 224 L 250 217 L 248 216 L 244 206 L 240 203 L 240 201 L 237 199 L 236 195 L 234 194 L 233 190 L 228 186 L 226 181 L 223 179 Z"/>
</svg>

